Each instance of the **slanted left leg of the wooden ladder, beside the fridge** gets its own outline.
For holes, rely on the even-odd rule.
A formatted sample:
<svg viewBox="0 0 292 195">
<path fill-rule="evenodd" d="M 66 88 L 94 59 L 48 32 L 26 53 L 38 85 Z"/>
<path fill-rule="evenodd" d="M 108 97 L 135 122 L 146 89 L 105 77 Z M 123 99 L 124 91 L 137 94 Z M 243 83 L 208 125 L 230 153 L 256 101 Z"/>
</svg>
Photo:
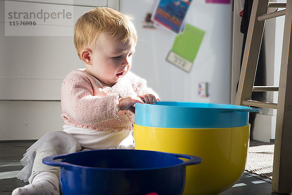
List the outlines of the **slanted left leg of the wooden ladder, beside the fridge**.
<svg viewBox="0 0 292 195">
<path fill-rule="evenodd" d="M 257 17 L 267 13 L 268 3 L 269 0 L 254 0 L 253 2 L 239 76 L 236 105 L 243 105 L 243 100 L 250 100 L 252 97 L 256 64 L 265 25 L 265 20 L 258 21 Z"/>
</svg>

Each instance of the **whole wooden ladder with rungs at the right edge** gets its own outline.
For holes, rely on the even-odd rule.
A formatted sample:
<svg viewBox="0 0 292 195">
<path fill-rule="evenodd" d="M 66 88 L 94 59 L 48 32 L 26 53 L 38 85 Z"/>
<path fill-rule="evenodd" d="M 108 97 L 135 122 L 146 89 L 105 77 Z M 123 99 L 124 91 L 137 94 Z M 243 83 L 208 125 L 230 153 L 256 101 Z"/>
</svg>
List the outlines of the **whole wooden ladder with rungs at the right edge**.
<svg viewBox="0 0 292 195">
<path fill-rule="evenodd" d="M 267 14 L 268 7 L 286 9 Z M 256 65 L 265 20 L 285 15 L 279 87 L 256 86 Z M 289 194 L 292 189 L 292 0 L 273 3 L 254 0 L 240 71 L 236 105 L 277 109 L 272 190 Z M 253 91 L 278 91 L 278 103 L 251 100 Z"/>
</svg>

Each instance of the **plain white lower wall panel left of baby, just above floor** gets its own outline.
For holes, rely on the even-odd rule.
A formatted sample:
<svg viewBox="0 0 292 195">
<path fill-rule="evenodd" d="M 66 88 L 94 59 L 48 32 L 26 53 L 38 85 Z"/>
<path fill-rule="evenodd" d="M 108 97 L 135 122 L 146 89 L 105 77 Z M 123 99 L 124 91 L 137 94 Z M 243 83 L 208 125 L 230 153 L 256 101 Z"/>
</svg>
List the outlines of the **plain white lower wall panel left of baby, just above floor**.
<svg viewBox="0 0 292 195">
<path fill-rule="evenodd" d="M 0 140 L 35 140 L 64 124 L 59 101 L 0 101 Z"/>
</svg>

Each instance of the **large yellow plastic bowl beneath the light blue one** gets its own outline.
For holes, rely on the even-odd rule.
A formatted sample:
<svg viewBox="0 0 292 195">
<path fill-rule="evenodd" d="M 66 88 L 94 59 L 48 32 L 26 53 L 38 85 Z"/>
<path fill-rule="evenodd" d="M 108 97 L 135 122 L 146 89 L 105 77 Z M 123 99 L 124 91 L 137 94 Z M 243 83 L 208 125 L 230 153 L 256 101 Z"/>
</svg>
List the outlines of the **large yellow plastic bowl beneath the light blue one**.
<svg viewBox="0 0 292 195">
<path fill-rule="evenodd" d="M 220 195 L 242 176 L 250 124 L 231 128 L 184 129 L 134 124 L 135 149 L 195 155 L 201 164 L 186 167 L 183 195 Z"/>
</svg>

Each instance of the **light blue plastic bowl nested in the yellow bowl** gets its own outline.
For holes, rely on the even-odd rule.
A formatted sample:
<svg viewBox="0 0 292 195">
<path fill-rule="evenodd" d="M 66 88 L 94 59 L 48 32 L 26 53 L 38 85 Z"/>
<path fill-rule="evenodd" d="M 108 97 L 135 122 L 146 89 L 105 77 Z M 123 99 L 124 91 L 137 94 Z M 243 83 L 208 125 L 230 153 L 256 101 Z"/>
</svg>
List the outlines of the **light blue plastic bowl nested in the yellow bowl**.
<svg viewBox="0 0 292 195">
<path fill-rule="evenodd" d="M 135 104 L 135 124 L 163 128 L 228 128 L 248 125 L 258 108 L 225 104 L 156 102 Z"/>
</svg>

